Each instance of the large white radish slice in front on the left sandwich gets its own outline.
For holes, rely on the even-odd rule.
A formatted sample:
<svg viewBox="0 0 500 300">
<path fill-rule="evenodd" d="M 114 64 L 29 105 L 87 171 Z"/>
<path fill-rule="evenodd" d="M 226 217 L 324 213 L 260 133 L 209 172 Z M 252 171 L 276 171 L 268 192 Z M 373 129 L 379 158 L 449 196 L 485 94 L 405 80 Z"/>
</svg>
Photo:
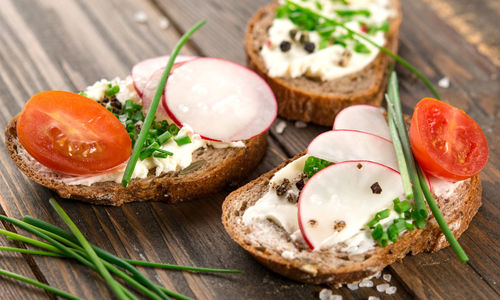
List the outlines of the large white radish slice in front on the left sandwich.
<svg viewBox="0 0 500 300">
<path fill-rule="evenodd" d="M 170 117 L 210 140 L 247 140 L 268 130 L 277 114 L 274 94 L 262 78 L 218 58 L 185 62 L 170 76 L 165 95 Z"/>
</svg>

